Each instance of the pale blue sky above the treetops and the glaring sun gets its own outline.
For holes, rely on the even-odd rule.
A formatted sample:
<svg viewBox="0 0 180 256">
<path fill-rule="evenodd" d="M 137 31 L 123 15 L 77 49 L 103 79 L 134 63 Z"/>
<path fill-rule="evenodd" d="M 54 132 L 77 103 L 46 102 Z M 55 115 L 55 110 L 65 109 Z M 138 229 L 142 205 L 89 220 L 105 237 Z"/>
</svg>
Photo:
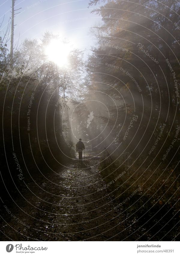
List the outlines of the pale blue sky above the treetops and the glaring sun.
<svg viewBox="0 0 180 256">
<path fill-rule="evenodd" d="M 11 16 L 11 0 L 2 0 L 0 4 L 0 22 L 5 15 L 1 30 L 5 30 Z M 101 17 L 91 14 L 88 0 L 16 0 L 15 9 L 22 8 L 16 15 L 14 40 L 25 38 L 41 39 L 46 30 L 66 37 L 80 49 L 90 49 L 93 40 L 88 34 L 89 27 L 101 21 Z M 19 12 L 18 11 L 18 12 Z"/>
</svg>

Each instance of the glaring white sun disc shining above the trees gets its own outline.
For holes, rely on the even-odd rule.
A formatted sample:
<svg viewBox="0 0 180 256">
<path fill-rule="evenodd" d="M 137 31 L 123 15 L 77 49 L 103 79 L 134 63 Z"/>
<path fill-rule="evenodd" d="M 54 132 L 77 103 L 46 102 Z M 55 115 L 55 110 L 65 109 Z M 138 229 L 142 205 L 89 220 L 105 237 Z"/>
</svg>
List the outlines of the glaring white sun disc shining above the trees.
<svg viewBox="0 0 180 256">
<path fill-rule="evenodd" d="M 63 43 L 58 39 L 53 39 L 45 49 L 45 54 L 50 61 L 55 62 L 58 66 L 63 67 L 68 63 L 68 55 L 72 47 L 69 43 Z"/>
</svg>

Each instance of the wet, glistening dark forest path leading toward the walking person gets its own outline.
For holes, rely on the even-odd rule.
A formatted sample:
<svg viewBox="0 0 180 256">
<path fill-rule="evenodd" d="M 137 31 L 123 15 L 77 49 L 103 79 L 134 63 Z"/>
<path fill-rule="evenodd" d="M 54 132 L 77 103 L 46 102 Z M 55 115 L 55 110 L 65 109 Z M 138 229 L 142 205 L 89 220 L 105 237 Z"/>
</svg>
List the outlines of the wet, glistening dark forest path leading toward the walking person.
<svg viewBox="0 0 180 256">
<path fill-rule="evenodd" d="M 89 157 L 82 165 L 72 160 L 46 178 L 41 175 L 35 180 L 37 185 L 26 184 L 29 188 L 22 192 L 26 200 L 18 198 L 18 207 L 7 205 L 15 217 L 9 214 L 2 232 L 14 241 L 130 240 L 126 239 L 128 232 L 123 231 L 122 214 L 117 216 L 113 209 L 113 198 L 107 189 L 98 191 L 105 185 L 99 171 L 101 157 L 92 153 Z"/>
</svg>

